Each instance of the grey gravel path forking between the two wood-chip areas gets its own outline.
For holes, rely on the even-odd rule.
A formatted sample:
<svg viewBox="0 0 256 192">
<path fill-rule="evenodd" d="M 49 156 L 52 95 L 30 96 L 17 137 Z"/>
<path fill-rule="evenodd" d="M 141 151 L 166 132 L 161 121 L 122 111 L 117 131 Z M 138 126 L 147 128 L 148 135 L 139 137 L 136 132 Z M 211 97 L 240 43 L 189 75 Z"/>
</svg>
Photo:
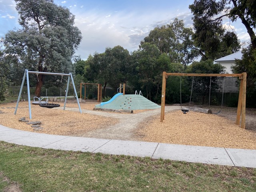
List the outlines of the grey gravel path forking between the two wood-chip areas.
<svg viewBox="0 0 256 192">
<path fill-rule="evenodd" d="M 178 106 L 166 106 L 166 112 L 178 110 Z M 66 108 L 66 110 L 78 111 L 77 108 Z M 91 138 L 103 138 L 103 139 L 116 139 L 116 140 L 138 140 L 134 136 L 134 130 L 138 127 L 138 124 L 150 119 L 151 116 L 159 115 L 160 108 L 155 110 L 148 110 L 138 114 L 117 114 L 117 113 L 106 113 L 92 110 L 82 110 L 83 113 L 89 113 L 99 116 L 116 118 L 119 123 L 109 126 L 108 128 L 101 128 L 97 130 L 91 130 L 85 134 L 81 134 L 82 137 Z"/>
</svg>

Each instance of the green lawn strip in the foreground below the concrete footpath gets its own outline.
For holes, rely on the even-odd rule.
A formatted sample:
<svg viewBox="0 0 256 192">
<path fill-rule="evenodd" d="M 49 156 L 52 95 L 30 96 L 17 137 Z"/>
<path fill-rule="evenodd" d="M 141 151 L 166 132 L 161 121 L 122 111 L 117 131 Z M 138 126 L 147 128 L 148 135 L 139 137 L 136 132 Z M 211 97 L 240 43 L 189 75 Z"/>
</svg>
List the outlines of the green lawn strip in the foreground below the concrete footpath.
<svg viewBox="0 0 256 192">
<path fill-rule="evenodd" d="M 256 169 L 33 148 L 0 142 L 0 191 L 256 191 Z"/>
</svg>

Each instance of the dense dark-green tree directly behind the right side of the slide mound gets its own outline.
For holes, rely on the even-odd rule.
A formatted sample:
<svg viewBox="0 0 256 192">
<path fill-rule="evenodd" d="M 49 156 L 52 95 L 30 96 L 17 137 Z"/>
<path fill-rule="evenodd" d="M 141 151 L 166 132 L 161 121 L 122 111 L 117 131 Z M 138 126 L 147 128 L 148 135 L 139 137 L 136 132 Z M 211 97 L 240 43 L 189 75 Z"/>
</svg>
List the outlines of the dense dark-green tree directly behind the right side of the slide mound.
<svg viewBox="0 0 256 192">
<path fill-rule="evenodd" d="M 132 61 L 135 73 L 130 82 L 134 88 L 146 93 L 146 98 L 156 101 L 162 82 L 161 74 L 170 68 L 168 55 L 161 54 L 156 45 L 145 42 L 139 50 L 132 52 Z"/>
</svg>

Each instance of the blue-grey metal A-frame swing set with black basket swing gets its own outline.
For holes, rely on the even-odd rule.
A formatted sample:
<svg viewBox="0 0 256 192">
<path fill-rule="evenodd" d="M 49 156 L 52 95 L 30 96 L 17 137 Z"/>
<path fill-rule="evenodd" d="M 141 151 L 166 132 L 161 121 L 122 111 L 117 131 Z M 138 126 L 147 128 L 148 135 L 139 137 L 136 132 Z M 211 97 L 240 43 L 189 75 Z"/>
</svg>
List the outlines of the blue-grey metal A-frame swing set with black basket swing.
<svg viewBox="0 0 256 192">
<path fill-rule="evenodd" d="M 24 72 L 24 76 L 23 76 L 23 80 L 22 80 L 22 84 L 21 84 L 21 87 L 20 87 L 20 93 L 19 93 L 19 96 L 18 96 L 18 100 L 17 100 L 17 104 L 16 104 L 16 108 L 15 108 L 15 111 L 14 111 L 14 115 L 16 115 L 17 113 L 17 110 L 18 110 L 18 105 L 19 105 L 19 102 L 20 102 L 20 96 L 21 96 L 21 93 L 22 93 L 22 88 L 24 86 L 24 82 L 25 82 L 25 78 L 27 79 L 27 87 L 28 87 L 28 110 L 29 110 L 29 118 L 32 119 L 32 114 L 31 114 L 31 104 L 30 104 L 30 88 L 29 88 L 29 78 L 28 78 L 28 74 L 36 74 L 38 76 L 38 74 L 45 74 L 45 75 L 58 75 L 58 76 L 68 76 L 68 83 L 67 83 L 67 88 L 66 88 L 66 95 L 65 95 L 65 101 L 64 101 L 64 108 L 63 110 L 65 110 L 65 107 L 66 107 L 66 102 L 67 102 L 67 96 L 68 96 L 68 87 L 69 87 L 69 82 L 70 82 L 70 78 L 71 78 L 71 81 L 72 81 L 72 85 L 73 85 L 73 88 L 74 88 L 74 92 L 76 94 L 76 101 L 77 101 L 77 104 L 78 104 L 78 108 L 79 108 L 79 111 L 80 113 L 82 114 L 82 111 L 81 111 L 81 108 L 80 108 L 80 104 L 79 104 L 79 101 L 78 101 L 78 96 L 77 96 L 77 93 L 76 93 L 76 87 L 75 87 L 75 84 L 74 84 L 74 80 L 73 80 L 73 77 L 72 77 L 72 74 L 69 73 L 69 74 L 64 74 L 64 73 L 50 73 L 50 72 L 38 72 L 38 71 L 29 71 L 29 70 L 25 70 Z M 56 107 L 57 104 L 40 104 L 42 105 L 41 107 L 46 107 L 46 108 L 53 108 L 53 107 Z M 48 105 L 48 106 L 47 106 Z"/>
</svg>

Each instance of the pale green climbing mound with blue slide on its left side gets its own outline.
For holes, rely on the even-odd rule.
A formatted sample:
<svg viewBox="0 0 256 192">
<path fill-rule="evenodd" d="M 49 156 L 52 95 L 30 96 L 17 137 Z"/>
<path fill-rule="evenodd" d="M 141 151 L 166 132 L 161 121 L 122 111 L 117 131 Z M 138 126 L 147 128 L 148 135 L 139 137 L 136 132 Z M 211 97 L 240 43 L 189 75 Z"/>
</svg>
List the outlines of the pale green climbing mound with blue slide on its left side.
<svg viewBox="0 0 256 192">
<path fill-rule="evenodd" d="M 114 98 L 115 97 L 115 98 Z M 141 95 L 123 95 L 116 94 L 112 101 L 103 102 L 95 106 L 95 108 L 117 109 L 117 110 L 142 110 L 160 108 L 158 104 L 153 103 Z"/>
</svg>

